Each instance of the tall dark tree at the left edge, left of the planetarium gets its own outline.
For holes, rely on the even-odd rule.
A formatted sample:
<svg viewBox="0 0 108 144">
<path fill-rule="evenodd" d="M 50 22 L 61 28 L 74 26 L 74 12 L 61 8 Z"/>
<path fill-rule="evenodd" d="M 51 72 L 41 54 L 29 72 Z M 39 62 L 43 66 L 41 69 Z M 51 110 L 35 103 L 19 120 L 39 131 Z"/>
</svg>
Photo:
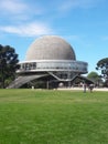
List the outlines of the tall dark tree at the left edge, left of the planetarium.
<svg viewBox="0 0 108 144">
<path fill-rule="evenodd" d="M 0 44 L 0 82 L 1 88 L 6 88 L 6 81 L 13 80 L 18 65 L 18 54 L 10 45 Z"/>
</svg>

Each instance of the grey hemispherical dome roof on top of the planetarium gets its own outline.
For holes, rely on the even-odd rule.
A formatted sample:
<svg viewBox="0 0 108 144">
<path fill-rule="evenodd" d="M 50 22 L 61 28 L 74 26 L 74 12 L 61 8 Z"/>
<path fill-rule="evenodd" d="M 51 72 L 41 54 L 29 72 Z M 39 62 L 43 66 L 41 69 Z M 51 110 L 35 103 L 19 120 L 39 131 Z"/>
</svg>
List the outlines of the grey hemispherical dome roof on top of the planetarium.
<svg viewBox="0 0 108 144">
<path fill-rule="evenodd" d="M 73 48 L 65 40 L 55 35 L 45 35 L 30 45 L 25 60 L 76 60 L 76 56 Z"/>
</svg>

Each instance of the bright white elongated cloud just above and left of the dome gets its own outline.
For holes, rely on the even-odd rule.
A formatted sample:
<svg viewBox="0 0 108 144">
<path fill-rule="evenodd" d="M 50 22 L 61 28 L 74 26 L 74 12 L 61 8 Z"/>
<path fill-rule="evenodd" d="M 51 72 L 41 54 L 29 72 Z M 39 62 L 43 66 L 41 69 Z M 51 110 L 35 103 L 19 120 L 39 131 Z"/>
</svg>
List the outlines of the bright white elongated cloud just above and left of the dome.
<svg viewBox="0 0 108 144">
<path fill-rule="evenodd" d="M 0 31 L 4 33 L 18 34 L 22 37 L 35 37 L 42 34 L 51 34 L 52 29 L 50 29 L 46 24 L 32 22 L 23 25 L 6 25 L 0 27 Z"/>
</svg>

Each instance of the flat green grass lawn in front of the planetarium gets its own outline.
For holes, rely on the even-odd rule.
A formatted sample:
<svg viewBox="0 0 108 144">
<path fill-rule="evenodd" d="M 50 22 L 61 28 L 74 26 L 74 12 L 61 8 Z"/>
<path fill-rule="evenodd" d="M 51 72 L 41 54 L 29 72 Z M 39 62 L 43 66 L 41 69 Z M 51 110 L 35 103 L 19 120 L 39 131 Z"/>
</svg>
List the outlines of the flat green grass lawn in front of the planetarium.
<svg viewBox="0 0 108 144">
<path fill-rule="evenodd" d="M 108 92 L 0 90 L 0 144 L 108 144 Z"/>
</svg>

